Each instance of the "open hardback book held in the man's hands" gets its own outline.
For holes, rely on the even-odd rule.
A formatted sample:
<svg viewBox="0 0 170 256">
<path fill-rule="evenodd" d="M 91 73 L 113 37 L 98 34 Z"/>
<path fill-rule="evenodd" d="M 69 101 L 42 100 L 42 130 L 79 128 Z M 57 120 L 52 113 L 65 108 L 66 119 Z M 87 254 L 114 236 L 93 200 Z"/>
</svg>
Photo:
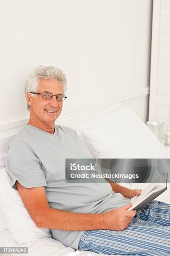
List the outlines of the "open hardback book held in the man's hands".
<svg viewBox="0 0 170 256">
<path fill-rule="evenodd" d="M 166 183 L 151 183 L 148 187 L 141 191 L 139 196 L 133 197 L 130 202 L 133 204 L 128 210 L 140 210 L 145 205 L 149 204 L 152 200 L 167 190 L 168 173 Z"/>
</svg>

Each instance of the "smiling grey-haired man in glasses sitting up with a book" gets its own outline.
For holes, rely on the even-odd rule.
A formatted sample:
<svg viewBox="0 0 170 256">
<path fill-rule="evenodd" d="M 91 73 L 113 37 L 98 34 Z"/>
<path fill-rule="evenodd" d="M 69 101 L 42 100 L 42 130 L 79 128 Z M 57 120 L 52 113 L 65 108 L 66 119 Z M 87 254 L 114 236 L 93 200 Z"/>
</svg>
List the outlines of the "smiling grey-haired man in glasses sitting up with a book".
<svg viewBox="0 0 170 256">
<path fill-rule="evenodd" d="M 25 83 L 30 119 L 7 146 L 11 186 L 39 228 L 75 249 L 119 255 L 170 255 L 170 205 L 127 211 L 138 189 L 109 180 L 65 182 L 66 158 L 92 158 L 77 133 L 55 125 L 67 97 L 65 74 L 37 67 Z"/>
</svg>

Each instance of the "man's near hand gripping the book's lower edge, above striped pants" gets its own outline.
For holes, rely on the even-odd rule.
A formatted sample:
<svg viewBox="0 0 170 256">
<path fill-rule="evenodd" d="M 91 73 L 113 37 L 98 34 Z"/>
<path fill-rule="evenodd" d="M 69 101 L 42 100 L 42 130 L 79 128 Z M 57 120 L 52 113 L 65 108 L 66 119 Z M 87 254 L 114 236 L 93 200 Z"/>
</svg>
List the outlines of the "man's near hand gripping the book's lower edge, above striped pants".
<svg viewBox="0 0 170 256">
<path fill-rule="evenodd" d="M 107 229 L 120 231 L 128 228 L 131 220 L 136 215 L 136 210 L 127 211 L 132 203 L 115 210 L 103 213 L 103 224 Z"/>
</svg>

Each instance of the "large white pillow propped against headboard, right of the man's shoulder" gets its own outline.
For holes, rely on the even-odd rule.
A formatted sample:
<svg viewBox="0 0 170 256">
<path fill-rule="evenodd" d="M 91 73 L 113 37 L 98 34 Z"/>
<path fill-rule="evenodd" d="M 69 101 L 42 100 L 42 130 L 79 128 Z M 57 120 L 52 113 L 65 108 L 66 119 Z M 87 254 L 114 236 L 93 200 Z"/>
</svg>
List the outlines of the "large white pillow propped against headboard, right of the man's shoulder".
<svg viewBox="0 0 170 256">
<path fill-rule="evenodd" d="M 102 118 L 103 120 L 103 118 Z M 86 141 L 95 158 L 164 158 L 166 150 L 145 123 L 123 107 L 106 115 L 104 122 L 94 128 L 95 120 L 77 131 Z M 97 123 L 99 121 L 97 120 Z"/>
</svg>

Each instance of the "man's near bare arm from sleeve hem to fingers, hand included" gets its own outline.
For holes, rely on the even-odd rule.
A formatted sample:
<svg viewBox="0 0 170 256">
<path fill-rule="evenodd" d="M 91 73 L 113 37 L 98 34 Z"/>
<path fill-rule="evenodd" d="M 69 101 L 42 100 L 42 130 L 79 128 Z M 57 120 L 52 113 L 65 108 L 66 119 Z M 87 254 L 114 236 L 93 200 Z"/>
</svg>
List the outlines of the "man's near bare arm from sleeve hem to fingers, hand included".
<svg viewBox="0 0 170 256">
<path fill-rule="evenodd" d="M 16 187 L 32 220 L 39 228 L 58 230 L 124 230 L 136 211 L 127 211 L 132 204 L 100 213 L 75 213 L 50 208 L 44 187 L 25 188 L 18 181 Z M 115 221 L 116 220 L 116 221 Z"/>
</svg>

